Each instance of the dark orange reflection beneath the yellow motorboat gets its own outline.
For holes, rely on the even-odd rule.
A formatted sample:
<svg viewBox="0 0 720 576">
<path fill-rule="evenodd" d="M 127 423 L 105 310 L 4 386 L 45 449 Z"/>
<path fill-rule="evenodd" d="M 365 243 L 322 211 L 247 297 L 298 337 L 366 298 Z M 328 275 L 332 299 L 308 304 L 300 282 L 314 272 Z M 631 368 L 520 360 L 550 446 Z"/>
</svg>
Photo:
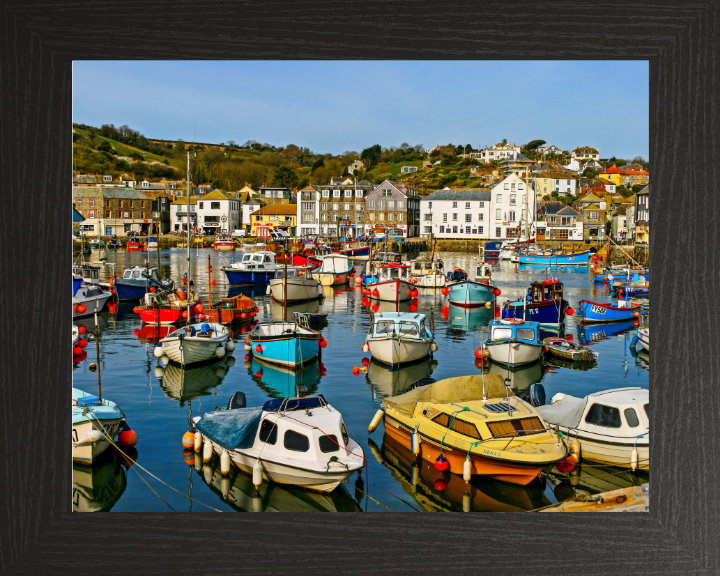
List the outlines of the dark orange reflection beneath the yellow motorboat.
<svg viewBox="0 0 720 576">
<path fill-rule="evenodd" d="M 417 511 L 524 512 L 551 503 L 538 479 L 520 486 L 475 476 L 466 483 L 462 476 L 441 472 L 432 463 L 419 459 L 387 434 L 381 448 L 372 439 L 368 439 L 368 445 L 377 461 L 390 470 L 414 500 L 409 504 Z"/>
</svg>

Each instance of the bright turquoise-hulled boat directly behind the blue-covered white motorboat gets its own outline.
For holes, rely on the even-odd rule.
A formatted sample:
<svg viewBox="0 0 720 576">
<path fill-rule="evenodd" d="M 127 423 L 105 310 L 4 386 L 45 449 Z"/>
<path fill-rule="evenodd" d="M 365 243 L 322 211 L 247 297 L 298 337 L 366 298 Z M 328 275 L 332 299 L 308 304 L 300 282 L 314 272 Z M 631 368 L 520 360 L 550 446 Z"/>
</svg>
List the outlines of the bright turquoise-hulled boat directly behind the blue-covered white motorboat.
<svg viewBox="0 0 720 576">
<path fill-rule="evenodd" d="M 313 362 L 323 341 L 320 332 L 296 322 L 263 322 L 248 334 L 254 357 L 290 368 Z"/>
</svg>

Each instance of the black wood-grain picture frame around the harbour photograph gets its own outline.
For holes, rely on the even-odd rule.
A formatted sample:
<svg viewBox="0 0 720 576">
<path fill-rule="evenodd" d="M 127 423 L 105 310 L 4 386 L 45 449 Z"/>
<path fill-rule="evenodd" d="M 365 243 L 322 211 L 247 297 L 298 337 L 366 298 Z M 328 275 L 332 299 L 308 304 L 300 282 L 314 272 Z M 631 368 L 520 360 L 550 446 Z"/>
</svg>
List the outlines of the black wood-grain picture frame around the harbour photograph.
<svg viewBox="0 0 720 576">
<path fill-rule="evenodd" d="M 718 37 L 720 14 L 712 0 L 5 0 L 0 573 L 720 572 L 713 480 L 720 471 L 720 353 L 713 336 L 720 270 Z M 656 336 L 649 514 L 71 513 L 65 335 L 72 61 L 285 58 L 650 61 Z M 348 81 L 371 92 L 371 78 Z M 502 78 L 488 78 L 493 82 Z M 460 89 L 461 78 L 438 105 L 452 105 Z M 587 122 L 589 132 L 593 122 L 614 122 L 623 137 L 622 110 L 589 110 L 568 122 Z"/>
</svg>

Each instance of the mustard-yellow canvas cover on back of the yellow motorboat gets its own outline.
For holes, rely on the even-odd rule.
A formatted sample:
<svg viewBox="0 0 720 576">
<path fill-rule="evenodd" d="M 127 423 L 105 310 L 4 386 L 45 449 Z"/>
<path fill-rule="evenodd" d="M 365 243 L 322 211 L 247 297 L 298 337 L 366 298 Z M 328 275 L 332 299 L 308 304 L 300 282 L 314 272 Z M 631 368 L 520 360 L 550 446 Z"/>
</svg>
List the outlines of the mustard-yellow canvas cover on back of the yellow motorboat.
<svg viewBox="0 0 720 576">
<path fill-rule="evenodd" d="M 415 404 L 429 402 L 433 404 L 449 404 L 451 402 L 470 402 L 480 400 L 485 396 L 488 399 L 504 398 L 506 389 L 503 377 L 498 374 L 476 374 L 473 376 L 458 376 L 446 378 L 430 386 L 422 386 L 415 390 L 385 398 L 382 405 L 396 409 L 398 412 L 412 416 Z M 513 393 L 510 391 L 510 395 Z"/>
</svg>

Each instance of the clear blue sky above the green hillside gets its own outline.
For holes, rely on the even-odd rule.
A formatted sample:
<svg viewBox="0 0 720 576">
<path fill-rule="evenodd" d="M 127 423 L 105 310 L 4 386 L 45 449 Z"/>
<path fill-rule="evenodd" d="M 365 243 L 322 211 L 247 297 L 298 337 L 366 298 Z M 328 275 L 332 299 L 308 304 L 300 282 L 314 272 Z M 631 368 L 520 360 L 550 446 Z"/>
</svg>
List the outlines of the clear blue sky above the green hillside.
<svg viewBox="0 0 720 576">
<path fill-rule="evenodd" d="M 646 61 L 77 61 L 73 121 L 339 154 L 542 139 L 649 160 Z M 197 128 L 196 128 L 197 126 Z"/>
</svg>

